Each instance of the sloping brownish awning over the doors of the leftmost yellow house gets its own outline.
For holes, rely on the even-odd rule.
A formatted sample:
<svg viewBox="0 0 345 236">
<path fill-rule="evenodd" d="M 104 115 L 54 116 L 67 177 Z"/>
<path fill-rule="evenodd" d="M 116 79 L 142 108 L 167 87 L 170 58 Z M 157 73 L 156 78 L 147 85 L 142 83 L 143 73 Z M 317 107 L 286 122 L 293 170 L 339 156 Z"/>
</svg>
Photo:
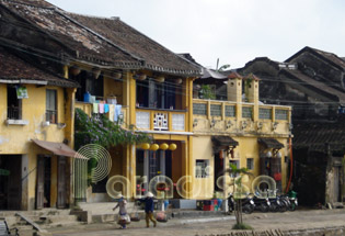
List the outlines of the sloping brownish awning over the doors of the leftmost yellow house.
<svg viewBox="0 0 345 236">
<path fill-rule="evenodd" d="M 76 157 L 76 158 L 84 159 L 81 155 L 78 155 L 76 150 L 73 150 L 66 144 L 47 142 L 47 141 L 37 141 L 37 139 L 32 139 L 32 141 L 35 144 L 37 144 L 39 147 L 46 150 L 49 150 L 57 156 Z"/>
</svg>

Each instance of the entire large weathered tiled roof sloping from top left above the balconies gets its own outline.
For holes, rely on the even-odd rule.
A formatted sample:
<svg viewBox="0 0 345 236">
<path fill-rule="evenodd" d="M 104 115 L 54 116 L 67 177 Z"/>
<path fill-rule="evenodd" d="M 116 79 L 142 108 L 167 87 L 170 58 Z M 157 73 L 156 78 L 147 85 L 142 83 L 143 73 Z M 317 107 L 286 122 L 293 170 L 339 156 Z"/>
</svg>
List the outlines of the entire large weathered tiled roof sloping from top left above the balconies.
<svg viewBox="0 0 345 236">
<path fill-rule="evenodd" d="M 61 42 L 78 59 L 123 69 L 200 75 L 198 66 L 172 53 L 119 19 L 68 13 L 43 0 L 0 0 L 27 23 Z"/>
</svg>

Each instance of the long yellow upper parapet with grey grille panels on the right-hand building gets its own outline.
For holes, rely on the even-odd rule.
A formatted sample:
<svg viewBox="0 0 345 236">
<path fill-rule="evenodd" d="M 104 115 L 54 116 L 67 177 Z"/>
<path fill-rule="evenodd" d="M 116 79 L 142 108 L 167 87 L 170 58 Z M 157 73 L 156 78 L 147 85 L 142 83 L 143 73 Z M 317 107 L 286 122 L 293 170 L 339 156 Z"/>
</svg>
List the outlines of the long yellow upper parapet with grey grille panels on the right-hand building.
<svg viewBox="0 0 345 236">
<path fill-rule="evenodd" d="M 193 100 L 193 131 L 218 134 L 290 134 L 291 108 Z"/>
</svg>

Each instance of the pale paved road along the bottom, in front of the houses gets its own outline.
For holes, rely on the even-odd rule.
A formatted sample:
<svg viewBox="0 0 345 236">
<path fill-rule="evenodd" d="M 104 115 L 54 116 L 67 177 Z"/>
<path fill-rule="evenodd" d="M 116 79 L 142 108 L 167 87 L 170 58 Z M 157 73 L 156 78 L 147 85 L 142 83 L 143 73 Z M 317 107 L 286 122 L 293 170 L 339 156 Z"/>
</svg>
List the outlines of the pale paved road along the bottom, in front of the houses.
<svg viewBox="0 0 345 236">
<path fill-rule="evenodd" d="M 172 220 L 161 223 L 158 227 L 146 228 L 145 221 L 131 223 L 128 229 L 118 229 L 117 224 L 91 224 L 79 225 L 73 228 L 49 229 L 54 236 L 82 235 L 82 236 L 106 236 L 106 235 L 142 235 L 142 236 L 195 236 L 229 234 L 234 224 L 233 216 L 210 218 Z M 345 210 L 310 210 L 285 213 L 253 213 L 244 215 L 244 222 L 257 231 L 265 229 L 303 229 L 345 226 Z"/>
</svg>

